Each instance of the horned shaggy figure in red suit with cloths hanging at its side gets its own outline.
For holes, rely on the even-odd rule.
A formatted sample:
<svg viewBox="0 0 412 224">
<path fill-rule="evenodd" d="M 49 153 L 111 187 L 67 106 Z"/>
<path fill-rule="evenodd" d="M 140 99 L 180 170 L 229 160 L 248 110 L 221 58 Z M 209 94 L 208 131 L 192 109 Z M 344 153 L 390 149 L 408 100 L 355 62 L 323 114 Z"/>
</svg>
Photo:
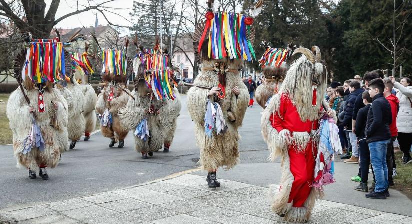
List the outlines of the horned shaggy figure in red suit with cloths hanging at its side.
<svg viewBox="0 0 412 224">
<path fill-rule="evenodd" d="M 323 108 L 329 110 L 323 97 L 328 73 L 319 48 L 312 50 L 298 48 L 293 52 L 303 55 L 290 66 L 279 93 L 262 114 L 262 135 L 270 158 L 282 159 L 281 183 L 272 210 L 290 222 L 310 218 L 315 201 L 322 198 L 322 185 L 334 181 L 333 150 L 339 148 L 335 146 L 339 138 L 333 119 L 322 118 L 317 132 Z"/>
</svg>

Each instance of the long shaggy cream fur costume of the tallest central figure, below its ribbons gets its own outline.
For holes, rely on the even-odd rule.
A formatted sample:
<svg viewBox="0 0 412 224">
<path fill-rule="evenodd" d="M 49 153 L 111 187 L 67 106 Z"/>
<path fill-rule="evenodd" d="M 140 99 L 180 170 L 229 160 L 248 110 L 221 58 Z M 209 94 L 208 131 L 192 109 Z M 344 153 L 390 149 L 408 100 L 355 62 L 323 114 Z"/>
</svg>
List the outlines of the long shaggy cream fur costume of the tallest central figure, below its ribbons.
<svg viewBox="0 0 412 224">
<path fill-rule="evenodd" d="M 217 62 L 225 62 L 229 69 L 239 69 L 241 62 L 239 60 L 209 60 L 202 59 L 202 67 L 213 67 Z M 240 139 L 238 128 L 242 125 L 243 117 L 249 101 L 249 92 L 245 84 L 240 79 L 238 73 L 226 72 L 226 96 L 220 100 L 223 116 L 225 118 L 228 130 L 223 135 L 217 135 L 214 131 L 212 137 L 205 134 L 204 118 L 206 113 L 206 103 L 209 99 L 209 90 L 191 87 L 187 94 L 187 108 L 192 120 L 195 122 L 195 134 L 197 144 L 200 148 L 199 164 L 203 170 L 213 171 L 220 166 L 232 168 L 238 163 L 238 140 Z M 218 86 L 218 75 L 214 70 L 204 70 L 194 80 L 194 84 L 214 87 Z M 233 87 L 239 87 L 240 93 L 236 96 L 232 93 Z M 211 101 L 213 97 L 210 97 Z M 228 112 L 235 116 L 235 122 L 230 122 Z"/>
</svg>

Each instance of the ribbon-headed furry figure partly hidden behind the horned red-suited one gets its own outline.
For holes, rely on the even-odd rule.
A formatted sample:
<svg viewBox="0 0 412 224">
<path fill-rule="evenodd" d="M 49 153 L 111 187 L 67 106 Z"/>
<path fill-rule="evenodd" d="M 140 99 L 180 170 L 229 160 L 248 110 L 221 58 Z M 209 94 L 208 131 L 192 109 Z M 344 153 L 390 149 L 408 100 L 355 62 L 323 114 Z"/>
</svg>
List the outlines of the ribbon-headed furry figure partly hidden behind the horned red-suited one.
<svg viewBox="0 0 412 224">
<path fill-rule="evenodd" d="M 265 48 L 259 60 L 265 80 L 256 89 L 255 98 L 262 108 L 266 108 L 272 96 L 279 92 L 288 70 L 287 61 L 292 54 L 292 49 L 289 45 L 286 49 L 272 48 L 266 41 L 262 41 L 260 46 Z"/>
</svg>

